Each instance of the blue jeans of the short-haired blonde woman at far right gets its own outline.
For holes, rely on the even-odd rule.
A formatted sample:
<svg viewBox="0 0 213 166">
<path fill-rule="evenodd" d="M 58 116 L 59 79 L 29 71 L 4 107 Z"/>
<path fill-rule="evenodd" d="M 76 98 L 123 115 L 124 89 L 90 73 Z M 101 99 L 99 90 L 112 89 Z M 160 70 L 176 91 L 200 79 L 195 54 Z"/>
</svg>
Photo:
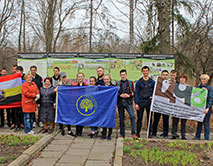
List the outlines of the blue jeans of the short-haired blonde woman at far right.
<svg viewBox="0 0 213 166">
<path fill-rule="evenodd" d="M 210 118 L 211 118 L 211 113 L 212 113 L 212 108 L 209 109 L 209 112 L 206 114 L 203 122 L 198 122 L 197 124 L 197 131 L 195 137 L 200 140 L 201 137 L 201 132 L 202 132 L 202 126 L 204 123 L 204 139 L 209 140 L 209 135 L 210 135 Z"/>
</svg>

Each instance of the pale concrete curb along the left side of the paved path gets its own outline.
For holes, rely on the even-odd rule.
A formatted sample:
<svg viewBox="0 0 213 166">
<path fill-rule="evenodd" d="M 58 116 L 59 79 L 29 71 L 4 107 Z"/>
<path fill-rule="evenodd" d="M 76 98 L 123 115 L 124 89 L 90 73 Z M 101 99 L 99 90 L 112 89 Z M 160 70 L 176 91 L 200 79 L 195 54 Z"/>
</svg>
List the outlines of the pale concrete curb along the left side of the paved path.
<svg viewBox="0 0 213 166">
<path fill-rule="evenodd" d="M 8 166 L 24 166 L 33 159 L 35 153 L 43 150 L 58 134 L 58 132 L 52 135 L 45 135 L 38 142 L 32 145 L 29 149 L 25 150 L 21 156 L 10 163 Z"/>
</svg>

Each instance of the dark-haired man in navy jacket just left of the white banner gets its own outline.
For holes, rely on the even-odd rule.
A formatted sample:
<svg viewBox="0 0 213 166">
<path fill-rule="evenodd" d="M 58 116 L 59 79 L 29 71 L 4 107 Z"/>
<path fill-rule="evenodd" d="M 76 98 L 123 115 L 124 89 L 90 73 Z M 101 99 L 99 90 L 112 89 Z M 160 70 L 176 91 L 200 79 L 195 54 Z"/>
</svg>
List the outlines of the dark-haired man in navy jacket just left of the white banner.
<svg viewBox="0 0 213 166">
<path fill-rule="evenodd" d="M 150 72 L 149 67 L 144 66 L 141 71 L 142 71 L 143 77 L 137 81 L 135 86 L 135 109 L 137 110 L 137 117 L 138 117 L 138 120 L 137 120 L 137 136 L 138 137 L 140 137 L 143 113 L 145 108 L 147 113 L 147 125 L 148 125 L 149 116 L 150 116 L 151 99 L 152 99 L 152 94 L 153 94 L 153 90 L 155 86 L 155 81 L 149 77 L 149 72 Z M 151 133 L 151 130 L 150 130 L 151 124 L 152 124 L 152 118 L 150 121 L 149 136 Z"/>
</svg>

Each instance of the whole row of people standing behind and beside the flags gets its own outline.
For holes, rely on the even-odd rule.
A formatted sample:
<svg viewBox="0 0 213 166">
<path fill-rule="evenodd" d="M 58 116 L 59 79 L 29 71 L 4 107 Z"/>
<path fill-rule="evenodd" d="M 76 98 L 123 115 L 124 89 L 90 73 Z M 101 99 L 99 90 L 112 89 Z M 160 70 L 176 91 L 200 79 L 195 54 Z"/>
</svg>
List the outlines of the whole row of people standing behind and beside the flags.
<svg viewBox="0 0 213 166">
<path fill-rule="evenodd" d="M 7 74 L 6 69 L 1 70 L 1 76 Z M 54 128 L 55 120 L 55 108 L 56 108 L 56 92 L 57 87 L 60 85 L 72 85 L 72 86 L 118 86 L 118 113 L 120 122 L 120 136 L 125 137 L 125 110 L 128 112 L 131 120 L 131 135 L 134 139 L 140 137 L 142 129 L 143 114 L 146 110 L 147 114 L 147 126 L 148 120 L 150 118 L 149 125 L 149 138 L 157 137 L 158 124 L 161 118 L 160 113 L 150 112 L 150 106 L 155 86 L 155 81 L 149 76 L 150 69 L 148 66 L 143 66 L 141 69 L 142 77 L 134 83 L 127 79 L 127 71 L 125 69 L 120 71 L 120 80 L 113 85 L 109 74 L 104 74 L 104 68 L 97 68 L 97 78 L 91 76 L 89 78 L 89 84 L 85 82 L 84 73 L 79 72 L 77 74 L 76 83 L 71 84 L 67 79 L 65 72 L 60 72 L 58 67 L 54 68 L 54 75 L 52 77 L 46 77 L 42 80 L 41 76 L 37 74 L 37 67 L 31 66 L 30 73 L 23 74 L 23 68 L 21 66 L 13 66 L 13 73 L 21 72 L 22 79 L 25 82 L 22 84 L 22 108 L 14 108 L 7 110 L 7 124 L 11 129 L 20 130 L 24 128 L 25 133 L 33 134 L 33 124 L 36 122 L 35 112 L 38 110 L 38 124 L 43 127 L 42 133 L 52 133 Z M 170 76 L 170 79 L 169 79 Z M 163 80 L 169 80 L 171 82 L 177 82 L 180 85 L 186 85 L 187 75 L 180 74 L 175 70 L 170 73 L 167 70 L 161 72 L 161 78 Z M 194 139 L 200 140 L 202 125 L 204 124 L 204 139 L 209 140 L 210 135 L 210 117 L 212 112 L 212 100 L 213 100 L 213 90 L 210 85 L 208 85 L 210 77 L 207 74 L 202 74 L 200 76 L 201 83 L 198 88 L 203 88 L 208 90 L 207 105 L 205 109 L 204 121 L 198 122 L 197 131 Z M 134 99 L 134 103 L 133 103 Z M 137 114 L 137 122 L 135 118 L 135 111 Z M 11 111 L 12 110 L 12 111 Z M 10 112 L 11 111 L 11 112 Z M 4 126 L 4 115 L 1 113 L 1 127 Z M 152 115 L 154 114 L 154 115 Z M 12 116 L 11 116 L 12 115 Z M 151 116 L 151 117 L 149 117 Z M 168 138 L 169 133 L 169 115 L 163 116 L 163 133 L 160 136 Z M 12 123 L 9 120 L 12 117 Z M 186 139 L 186 119 L 181 119 L 181 139 Z M 49 123 L 49 128 L 48 128 Z M 172 117 L 172 139 L 179 137 L 177 134 L 179 118 Z M 83 132 L 83 126 L 76 126 L 76 133 L 71 131 L 71 125 L 66 125 L 68 136 L 76 137 L 81 136 Z M 65 135 L 64 125 L 59 124 L 59 129 L 61 135 Z M 108 132 L 107 132 L 108 130 Z M 98 127 L 91 127 L 91 133 L 89 136 L 93 138 L 98 134 Z M 102 139 L 111 139 L 112 128 L 102 129 Z"/>
</svg>

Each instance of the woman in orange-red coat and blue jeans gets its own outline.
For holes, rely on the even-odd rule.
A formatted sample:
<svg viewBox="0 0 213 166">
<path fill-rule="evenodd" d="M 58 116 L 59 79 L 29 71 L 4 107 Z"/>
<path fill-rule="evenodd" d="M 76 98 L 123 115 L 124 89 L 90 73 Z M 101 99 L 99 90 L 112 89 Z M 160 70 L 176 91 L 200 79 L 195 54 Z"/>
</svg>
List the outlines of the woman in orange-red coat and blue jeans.
<svg viewBox="0 0 213 166">
<path fill-rule="evenodd" d="M 33 76 L 26 74 L 26 80 L 21 87 L 22 90 L 22 110 L 24 113 L 24 132 L 34 134 L 32 130 L 33 118 L 36 112 L 36 101 L 39 99 L 39 90 L 37 85 L 32 81 Z"/>
</svg>

